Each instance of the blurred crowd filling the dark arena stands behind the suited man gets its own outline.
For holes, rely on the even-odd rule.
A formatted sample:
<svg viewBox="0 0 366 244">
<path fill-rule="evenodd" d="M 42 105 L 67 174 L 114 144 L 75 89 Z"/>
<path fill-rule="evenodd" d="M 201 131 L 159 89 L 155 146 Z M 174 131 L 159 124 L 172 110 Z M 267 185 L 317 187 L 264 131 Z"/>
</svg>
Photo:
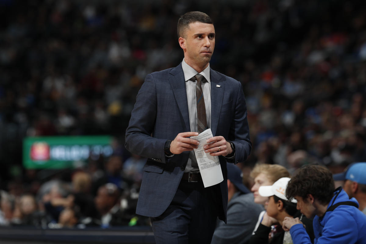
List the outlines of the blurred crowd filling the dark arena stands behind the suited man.
<svg viewBox="0 0 366 244">
<path fill-rule="evenodd" d="M 365 1 L 0 0 L 0 225 L 148 224 L 133 209 L 144 159 L 124 132 L 145 76 L 182 61 L 176 23 L 191 10 L 214 21 L 210 65 L 242 82 L 248 175 L 365 161 Z M 86 168 L 22 167 L 26 136 L 105 134 L 113 156 Z"/>
</svg>

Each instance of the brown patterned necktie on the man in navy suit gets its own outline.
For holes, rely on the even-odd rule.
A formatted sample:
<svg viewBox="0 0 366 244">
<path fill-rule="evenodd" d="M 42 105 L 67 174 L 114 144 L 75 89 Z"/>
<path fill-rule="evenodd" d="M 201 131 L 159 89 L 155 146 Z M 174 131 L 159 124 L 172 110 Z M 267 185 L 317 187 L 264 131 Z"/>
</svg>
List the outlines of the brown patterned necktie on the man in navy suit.
<svg viewBox="0 0 366 244">
<path fill-rule="evenodd" d="M 207 80 L 203 75 L 200 74 L 193 76 L 190 80 L 192 81 L 197 80 L 196 83 L 197 129 L 198 133 L 201 133 L 202 131 L 205 131 L 207 129 L 205 99 L 203 98 L 203 91 L 202 91 L 202 82 L 207 82 Z"/>
</svg>

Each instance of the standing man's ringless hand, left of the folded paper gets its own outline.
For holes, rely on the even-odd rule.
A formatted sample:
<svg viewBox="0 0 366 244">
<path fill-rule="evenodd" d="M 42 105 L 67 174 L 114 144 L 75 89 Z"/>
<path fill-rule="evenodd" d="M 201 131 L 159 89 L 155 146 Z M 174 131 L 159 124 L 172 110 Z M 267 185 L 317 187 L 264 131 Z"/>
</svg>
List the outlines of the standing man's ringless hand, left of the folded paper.
<svg viewBox="0 0 366 244">
<path fill-rule="evenodd" d="M 179 133 L 170 144 L 170 152 L 173 154 L 181 154 L 184 151 L 192 151 L 198 147 L 198 140 L 188 138 L 190 136 L 197 136 L 198 132 L 182 132 Z"/>
</svg>

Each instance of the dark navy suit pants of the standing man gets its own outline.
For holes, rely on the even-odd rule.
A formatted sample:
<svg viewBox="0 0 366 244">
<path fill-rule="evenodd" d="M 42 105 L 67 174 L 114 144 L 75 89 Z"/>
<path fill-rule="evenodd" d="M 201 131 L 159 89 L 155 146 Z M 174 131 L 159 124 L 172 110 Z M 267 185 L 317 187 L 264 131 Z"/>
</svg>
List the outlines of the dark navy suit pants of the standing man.
<svg viewBox="0 0 366 244">
<path fill-rule="evenodd" d="M 205 188 L 202 181 L 180 181 L 168 209 L 151 218 L 156 243 L 211 243 L 221 201 L 219 184 Z"/>
</svg>

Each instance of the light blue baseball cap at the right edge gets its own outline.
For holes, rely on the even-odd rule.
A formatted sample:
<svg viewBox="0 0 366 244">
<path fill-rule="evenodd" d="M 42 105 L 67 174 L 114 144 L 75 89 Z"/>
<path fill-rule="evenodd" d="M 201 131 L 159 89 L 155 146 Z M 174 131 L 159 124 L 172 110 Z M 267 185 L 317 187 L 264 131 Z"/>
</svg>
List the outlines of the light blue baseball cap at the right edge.
<svg viewBox="0 0 366 244">
<path fill-rule="evenodd" d="M 366 162 L 351 164 L 345 172 L 333 174 L 333 180 L 351 180 L 366 185 Z"/>
</svg>

